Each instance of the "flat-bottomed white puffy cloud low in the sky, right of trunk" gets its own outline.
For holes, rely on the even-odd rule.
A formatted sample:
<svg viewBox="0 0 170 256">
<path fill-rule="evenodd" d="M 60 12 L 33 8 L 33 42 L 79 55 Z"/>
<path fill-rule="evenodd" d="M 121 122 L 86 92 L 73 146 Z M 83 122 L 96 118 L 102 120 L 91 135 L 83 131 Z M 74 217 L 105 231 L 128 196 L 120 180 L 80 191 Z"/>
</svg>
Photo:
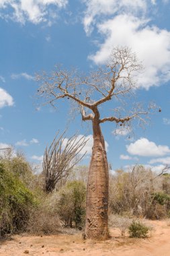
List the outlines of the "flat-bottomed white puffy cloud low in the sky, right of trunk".
<svg viewBox="0 0 170 256">
<path fill-rule="evenodd" d="M 136 156 L 165 156 L 170 153 L 168 146 L 157 146 L 155 142 L 148 141 L 146 138 L 138 139 L 126 148 L 129 154 Z"/>
</svg>

